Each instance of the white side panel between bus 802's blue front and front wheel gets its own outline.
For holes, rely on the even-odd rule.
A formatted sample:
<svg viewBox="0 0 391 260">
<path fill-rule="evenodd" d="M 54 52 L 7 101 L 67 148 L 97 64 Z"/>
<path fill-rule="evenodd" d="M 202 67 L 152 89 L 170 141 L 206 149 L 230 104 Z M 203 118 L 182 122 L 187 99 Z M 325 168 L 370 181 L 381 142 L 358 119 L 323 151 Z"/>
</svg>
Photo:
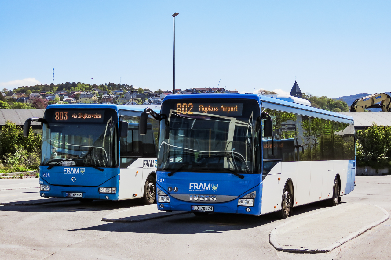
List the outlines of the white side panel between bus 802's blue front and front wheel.
<svg viewBox="0 0 391 260">
<path fill-rule="evenodd" d="M 281 209 L 280 186 L 282 182 L 278 178 L 281 178 L 281 162 L 276 164 L 262 181 L 261 214 Z"/>
</svg>

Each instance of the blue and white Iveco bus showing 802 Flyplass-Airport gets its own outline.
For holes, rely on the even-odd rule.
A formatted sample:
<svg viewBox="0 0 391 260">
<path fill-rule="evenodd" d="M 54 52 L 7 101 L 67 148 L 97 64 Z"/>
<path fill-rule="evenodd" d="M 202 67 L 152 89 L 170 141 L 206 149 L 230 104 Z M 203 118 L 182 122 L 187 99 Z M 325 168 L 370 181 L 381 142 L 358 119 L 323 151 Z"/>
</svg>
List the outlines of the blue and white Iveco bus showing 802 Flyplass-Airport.
<svg viewBox="0 0 391 260">
<path fill-rule="evenodd" d="M 307 100 L 169 95 L 155 117 L 160 120 L 160 210 L 279 211 L 286 218 L 292 207 L 314 201 L 337 205 L 354 189 L 353 118 L 310 107 Z"/>
</svg>

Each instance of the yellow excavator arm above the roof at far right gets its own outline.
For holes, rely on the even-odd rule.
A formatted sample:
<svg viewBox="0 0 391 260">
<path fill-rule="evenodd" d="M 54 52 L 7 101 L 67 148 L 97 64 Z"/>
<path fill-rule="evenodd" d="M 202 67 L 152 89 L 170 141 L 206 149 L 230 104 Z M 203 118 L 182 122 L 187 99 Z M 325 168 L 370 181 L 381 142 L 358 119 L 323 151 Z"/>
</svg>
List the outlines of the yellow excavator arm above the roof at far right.
<svg viewBox="0 0 391 260">
<path fill-rule="evenodd" d="M 380 102 L 380 104 L 378 104 Z M 382 112 L 391 112 L 391 97 L 386 93 L 376 93 L 356 99 L 350 107 L 350 112 L 364 112 L 364 109 L 380 107 Z"/>
</svg>

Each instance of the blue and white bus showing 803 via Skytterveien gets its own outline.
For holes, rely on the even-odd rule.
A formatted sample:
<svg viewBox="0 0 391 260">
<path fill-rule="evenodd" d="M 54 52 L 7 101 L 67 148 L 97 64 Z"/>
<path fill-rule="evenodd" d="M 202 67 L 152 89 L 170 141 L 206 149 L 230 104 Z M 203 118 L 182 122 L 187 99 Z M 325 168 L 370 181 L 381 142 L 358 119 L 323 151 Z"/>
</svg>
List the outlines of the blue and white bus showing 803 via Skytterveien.
<svg viewBox="0 0 391 260">
<path fill-rule="evenodd" d="M 158 122 L 147 119 L 138 134 L 145 105 L 49 105 L 42 126 L 40 194 L 80 201 L 156 198 Z M 153 109 L 160 111 L 160 105 Z"/>
</svg>

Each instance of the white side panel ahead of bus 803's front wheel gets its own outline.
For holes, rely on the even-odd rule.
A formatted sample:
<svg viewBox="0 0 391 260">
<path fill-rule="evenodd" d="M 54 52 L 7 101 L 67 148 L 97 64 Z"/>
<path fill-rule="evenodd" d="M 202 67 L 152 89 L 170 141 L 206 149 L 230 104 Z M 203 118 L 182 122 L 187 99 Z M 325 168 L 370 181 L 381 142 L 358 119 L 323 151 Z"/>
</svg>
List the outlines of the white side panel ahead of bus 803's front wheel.
<svg viewBox="0 0 391 260">
<path fill-rule="evenodd" d="M 120 169 L 118 200 L 140 198 L 142 196 L 143 159 L 138 158 L 127 168 Z M 133 194 L 137 196 L 133 197 Z"/>
</svg>

